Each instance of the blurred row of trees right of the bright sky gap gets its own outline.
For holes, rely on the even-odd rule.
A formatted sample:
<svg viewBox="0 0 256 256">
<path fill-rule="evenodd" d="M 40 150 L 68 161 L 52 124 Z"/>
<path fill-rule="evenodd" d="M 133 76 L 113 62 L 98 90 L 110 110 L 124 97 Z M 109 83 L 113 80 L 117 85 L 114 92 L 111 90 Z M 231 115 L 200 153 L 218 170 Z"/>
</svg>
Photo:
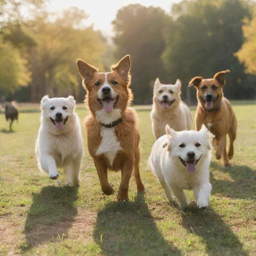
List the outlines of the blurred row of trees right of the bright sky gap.
<svg viewBox="0 0 256 256">
<path fill-rule="evenodd" d="M 226 76 L 225 96 L 254 99 L 255 18 L 254 23 L 248 25 L 254 5 L 255 2 L 243 0 L 183 0 L 172 6 L 170 14 L 140 4 L 121 8 L 113 21 L 114 54 L 117 59 L 131 54 L 134 103 L 152 102 L 156 77 L 168 84 L 180 78 L 182 98 L 194 103 L 196 91 L 188 88 L 190 79 L 194 76 L 212 78 L 216 72 L 226 69 L 231 73 Z M 254 42 L 245 42 L 249 36 Z M 247 50 L 240 50 L 241 47 Z M 246 54 L 250 61 L 244 60 Z M 250 72 L 251 69 L 254 72 Z"/>
</svg>

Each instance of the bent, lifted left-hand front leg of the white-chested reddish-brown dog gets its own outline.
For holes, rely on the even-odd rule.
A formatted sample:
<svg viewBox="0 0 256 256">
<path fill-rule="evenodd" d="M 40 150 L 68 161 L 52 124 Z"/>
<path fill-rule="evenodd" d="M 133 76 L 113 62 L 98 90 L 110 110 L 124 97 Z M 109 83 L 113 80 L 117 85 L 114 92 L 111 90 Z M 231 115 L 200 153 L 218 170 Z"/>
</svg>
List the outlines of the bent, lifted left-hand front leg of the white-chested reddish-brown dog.
<svg viewBox="0 0 256 256">
<path fill-rule="evenodd" d="M 112 184 L 108 182 L 107 166 L 103 162 L 94 160 L 94 164 L 100 180 L 101 190 L 106 195 L 114 194 L 115 190 Z"/>
</svg>

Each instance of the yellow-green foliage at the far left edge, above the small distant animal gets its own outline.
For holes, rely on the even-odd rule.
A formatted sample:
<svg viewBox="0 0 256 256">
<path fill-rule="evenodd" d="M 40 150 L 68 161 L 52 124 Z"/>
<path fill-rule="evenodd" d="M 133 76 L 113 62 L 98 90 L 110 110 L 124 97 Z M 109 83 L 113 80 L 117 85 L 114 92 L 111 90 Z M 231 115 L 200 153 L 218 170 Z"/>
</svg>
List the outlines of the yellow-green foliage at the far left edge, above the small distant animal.
<svg viewBox="0 0 256 256">
<path fill-rule="evenodd" d="M 26 59 L 18 49 L 0 37 L 0 90 L 5 94 L 14 93 L 20 86 L 27 86 L 30 73 Z"/>
</svg>

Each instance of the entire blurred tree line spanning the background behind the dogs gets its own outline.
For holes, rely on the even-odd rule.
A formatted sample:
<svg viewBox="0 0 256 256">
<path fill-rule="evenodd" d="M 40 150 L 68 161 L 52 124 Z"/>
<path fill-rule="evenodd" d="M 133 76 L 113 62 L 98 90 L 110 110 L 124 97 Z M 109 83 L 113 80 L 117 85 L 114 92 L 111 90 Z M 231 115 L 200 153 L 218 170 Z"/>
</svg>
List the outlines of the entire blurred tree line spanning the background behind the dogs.
<svg viewBox="0 0 256 256">
<path fill-rule="evenodd" d="M 0 96 L 38 102 L 40 98 L 84 90 L 76 59 L 109 70 L 126 54 L 132 61 L 135 104 L 150 104 L 156 77 L 182 81 L 182 98 L 195 102 L 188 88 L 194 76 L 211 78 L 230 69 L 224 94 L 230 99 L 256 96 L 256 12 L 254 1 L 182 0 L 170 13 L 132 4 L 112 22 L 114 49 L 93 27 L 86 13 L 69 8 L 47 13 L 47 0 L 0 0 Z M 22 16 L 21 8 L 28 10 Z"/>
</svg>

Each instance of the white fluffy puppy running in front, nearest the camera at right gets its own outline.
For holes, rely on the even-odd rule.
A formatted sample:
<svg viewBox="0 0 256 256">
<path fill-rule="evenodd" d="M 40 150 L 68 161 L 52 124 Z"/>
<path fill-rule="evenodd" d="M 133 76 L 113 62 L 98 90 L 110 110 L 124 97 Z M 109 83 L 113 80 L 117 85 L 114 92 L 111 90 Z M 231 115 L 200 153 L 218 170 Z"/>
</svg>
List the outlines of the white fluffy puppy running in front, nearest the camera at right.
<svg viewBox="0 0 256 256">
<path fill-rule="evenodd" d="M 214 135 L 202 125 L 199 132 L 175 132 L 166 125 L 166 135 L 154 143 L 149 162 L 169 202 L 173 195 L 180 208 L 189 205 L 184 189 L 193 190 L 199 209 L 208 206 L 212 186 L 209 182 L 211 141 Z"/>
</svg>

